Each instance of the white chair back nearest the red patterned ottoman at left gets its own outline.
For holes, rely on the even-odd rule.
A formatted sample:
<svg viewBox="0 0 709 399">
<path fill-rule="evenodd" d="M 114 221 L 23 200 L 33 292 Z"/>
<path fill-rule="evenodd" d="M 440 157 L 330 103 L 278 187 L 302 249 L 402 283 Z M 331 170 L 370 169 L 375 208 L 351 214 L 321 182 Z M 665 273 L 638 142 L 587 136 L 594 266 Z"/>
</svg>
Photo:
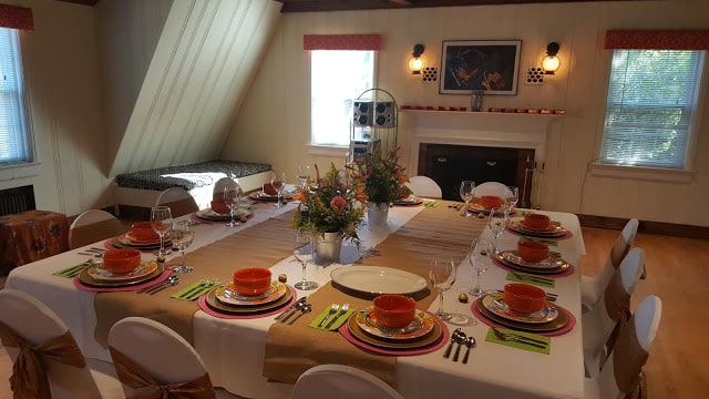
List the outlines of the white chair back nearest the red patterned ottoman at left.
<svg viewBox="0 0 709 399">
<path fill-rule="evenodd" d="M 69 227 L 69 248 L 74 249 L 100 239 L 115 237 L 127 232 L 121 221 L 102 209 L 86 211 Z"/>
</svg>

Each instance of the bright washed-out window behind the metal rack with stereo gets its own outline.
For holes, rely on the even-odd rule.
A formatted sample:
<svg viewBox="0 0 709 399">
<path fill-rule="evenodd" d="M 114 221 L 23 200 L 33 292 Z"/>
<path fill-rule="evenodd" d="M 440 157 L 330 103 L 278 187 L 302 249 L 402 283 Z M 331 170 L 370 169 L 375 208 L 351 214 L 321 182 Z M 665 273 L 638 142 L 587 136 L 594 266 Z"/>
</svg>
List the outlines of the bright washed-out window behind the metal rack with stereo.
<svg viewBox="0 0 709 399">
<path fill-rule="evenodd" d="M 310 125 L 315 145 L 349 145 L 352 100 L 374 86 L 374 51 L 310 53 Z"/>
</svg>

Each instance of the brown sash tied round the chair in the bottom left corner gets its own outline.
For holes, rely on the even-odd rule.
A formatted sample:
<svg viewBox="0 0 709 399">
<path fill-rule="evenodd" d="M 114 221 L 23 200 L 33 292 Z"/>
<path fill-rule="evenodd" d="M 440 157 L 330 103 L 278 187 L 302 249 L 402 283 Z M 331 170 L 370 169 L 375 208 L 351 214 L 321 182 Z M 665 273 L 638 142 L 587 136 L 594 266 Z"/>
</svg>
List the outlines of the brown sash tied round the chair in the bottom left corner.
<svg viewBox="0 0 709 399">
<path fill-rule="evenodd" d="M 45 369 L 48 360 L 76 368 L 86 367 L 84 356 L 69 330 L 42 345 L 32 347 L 17 331 L 0 321 L 0 339 L 2 345 L 20 349 L 10 376 L 10 388 L 16 399 L 51 399 Z"/>
</svg>

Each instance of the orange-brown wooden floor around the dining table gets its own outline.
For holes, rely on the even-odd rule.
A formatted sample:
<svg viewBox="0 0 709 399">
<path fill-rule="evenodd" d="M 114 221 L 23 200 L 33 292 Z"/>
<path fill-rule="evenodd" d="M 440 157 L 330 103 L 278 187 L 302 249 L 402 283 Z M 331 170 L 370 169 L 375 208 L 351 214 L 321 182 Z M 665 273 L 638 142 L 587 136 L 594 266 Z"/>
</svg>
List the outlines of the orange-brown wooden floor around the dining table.
<svg viewBox="0 0 709 399">
<path fill-rule="evenodd" d="M 583 274 L 597 273 L 618 234 L 583 228 L 587 253 L 580 262 Z M 645 366 L 648 398 L 705 398 L 709 392 L 709 241 L 639 233 L 635 245 L 645 249 L 648 276 L 636 288 L 633 308 L 647 295 L 662 300 L 662 319 Z M 0 376 L 9 376 L 11 369 L 0 350 Z M 0 399 L 11 397 L 8 379 L 0 378 Z"/>
</svg>

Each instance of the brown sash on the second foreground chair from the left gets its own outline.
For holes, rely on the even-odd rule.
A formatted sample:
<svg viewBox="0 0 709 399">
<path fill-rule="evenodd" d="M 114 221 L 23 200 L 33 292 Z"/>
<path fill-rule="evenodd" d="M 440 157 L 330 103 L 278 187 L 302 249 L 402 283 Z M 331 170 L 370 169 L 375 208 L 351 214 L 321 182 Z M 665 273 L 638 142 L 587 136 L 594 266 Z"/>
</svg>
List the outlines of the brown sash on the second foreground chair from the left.
<svg viewBox="0 0 709 399">
<path fill-rule="evenodd" d="M 145 369 L 123 355 L 120 350 L 109 346 L 116 375 L 122 383 L 134 391 L 126 399 L 214 399 L 216 393 L 205 372 L 192 381 L 176 383 L 160 383 Z"/>
</svg>

